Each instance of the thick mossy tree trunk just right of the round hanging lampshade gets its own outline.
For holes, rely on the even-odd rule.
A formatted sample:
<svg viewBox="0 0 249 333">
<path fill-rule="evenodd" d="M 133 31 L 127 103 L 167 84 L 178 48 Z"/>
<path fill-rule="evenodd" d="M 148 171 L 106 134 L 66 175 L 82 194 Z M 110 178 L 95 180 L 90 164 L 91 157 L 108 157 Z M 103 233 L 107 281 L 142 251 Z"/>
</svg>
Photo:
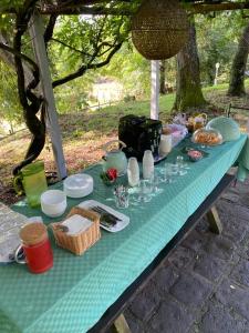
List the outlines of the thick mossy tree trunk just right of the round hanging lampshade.
<svg viewBox="0 0 249 333">
<path fill-rule="evenodd" d="M 206 103 L 200 87 L 196 29 L 195 23 L 191 22 L 188 42 L 177 54 L 176 99 L 174 110 L 186 111 L 187 109 L 195 109 Z"/>
</svg>

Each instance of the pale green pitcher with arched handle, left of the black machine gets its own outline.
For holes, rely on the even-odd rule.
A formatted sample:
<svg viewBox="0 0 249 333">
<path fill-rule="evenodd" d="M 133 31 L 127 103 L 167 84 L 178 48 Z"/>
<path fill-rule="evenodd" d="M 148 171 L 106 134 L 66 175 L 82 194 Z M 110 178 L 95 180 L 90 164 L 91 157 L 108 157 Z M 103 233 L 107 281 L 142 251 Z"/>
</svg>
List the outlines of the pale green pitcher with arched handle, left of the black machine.
<svg viewBox="0 0 249 333">
<path fill-rule="evenodd" d="M 108 147 L 115 142 L 121 144 L 121 149 L 108 151 Z M 127 171 L 127 159 L 122 149 L 126 148 L 126 144 L 123 141 L 113 140 L 104 144 L 102 148 L 105 152 L 105 155 L 102 158 L 104 160 L 103 171 L 106 172 L 108 169 L 114 168 L 116 169 L 118 176 L 125 174 Z"/>
</svg>

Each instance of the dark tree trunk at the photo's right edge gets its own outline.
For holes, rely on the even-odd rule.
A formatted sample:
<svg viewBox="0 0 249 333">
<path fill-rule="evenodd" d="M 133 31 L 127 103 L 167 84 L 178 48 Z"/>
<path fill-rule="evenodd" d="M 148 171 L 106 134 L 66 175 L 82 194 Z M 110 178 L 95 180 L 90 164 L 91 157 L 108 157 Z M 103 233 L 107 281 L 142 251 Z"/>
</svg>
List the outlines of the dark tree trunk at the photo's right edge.
<svg viewBox="0 0 249 333">
<path fill-rule="evenodd" d="M 239 40 L 238 50 L 234 58 L 230 73 L 228 94 L 241 97 L 246 94 L 245 71 L 249 52 L 249 24 L 245 28 Z"/>
</svg>

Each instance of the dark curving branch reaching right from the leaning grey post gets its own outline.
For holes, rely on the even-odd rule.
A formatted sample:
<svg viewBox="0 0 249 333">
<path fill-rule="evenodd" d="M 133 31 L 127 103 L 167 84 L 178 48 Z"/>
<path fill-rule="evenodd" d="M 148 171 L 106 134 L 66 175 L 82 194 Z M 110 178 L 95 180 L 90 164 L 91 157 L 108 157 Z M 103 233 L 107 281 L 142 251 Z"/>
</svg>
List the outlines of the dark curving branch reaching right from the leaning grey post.
<svg viewBox="0 0 249 333">
<path fill-rule="evenodd" d="M 84 64 L 76 72 L 69 74 L 68 77 L 64 77 L 62 79 L 53 81 L 53 88 L 82 77 L 89 69 L 102 68 L 102 67 L 108 64 L 110 61 L 112 60 L 113 56 L 121 49 L 122 44 L 123 44 L 123 42 L 116 44 L 113 48 L 113 50 L 108 53 L 107 58 L 104 61 L 98 62 L 98 63 L 90 63 L 87 65 Z"/>
</svg>

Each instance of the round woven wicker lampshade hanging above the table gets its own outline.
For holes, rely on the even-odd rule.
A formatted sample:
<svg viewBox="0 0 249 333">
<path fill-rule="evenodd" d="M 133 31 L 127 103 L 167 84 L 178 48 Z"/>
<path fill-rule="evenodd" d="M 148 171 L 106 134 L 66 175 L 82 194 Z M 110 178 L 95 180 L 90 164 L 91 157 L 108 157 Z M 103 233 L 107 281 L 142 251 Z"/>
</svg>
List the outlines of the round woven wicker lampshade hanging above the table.
<svg viewBox="0 0 249 333">
<path fill-rule="evenodd" d="M 178 0 L 144 0 L 132 20 L 133 43 L 146 59 L 168 59 L 184 47 L 188 29 Z"/>
</svg>

